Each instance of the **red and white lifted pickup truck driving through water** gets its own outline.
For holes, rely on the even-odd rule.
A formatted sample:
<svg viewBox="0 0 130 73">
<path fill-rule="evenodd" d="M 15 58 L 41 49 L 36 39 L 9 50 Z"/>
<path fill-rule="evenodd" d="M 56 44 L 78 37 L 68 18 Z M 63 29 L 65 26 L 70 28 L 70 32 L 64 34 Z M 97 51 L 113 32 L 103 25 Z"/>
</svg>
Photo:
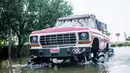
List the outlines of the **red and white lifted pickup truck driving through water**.
<svg viewBox="0 0 130 73">
<path fill-rule="evenodd" d="M 59 18 L 53 28 L 33 31 L 30 34 L 30 55 L 33 57 L 31 61 L 50 62 L 56 58 L 63 61 L 104 62 L 104 54 L 110 49 L 107 34 L 107 25 L 95 15 Z"/>
</svg>

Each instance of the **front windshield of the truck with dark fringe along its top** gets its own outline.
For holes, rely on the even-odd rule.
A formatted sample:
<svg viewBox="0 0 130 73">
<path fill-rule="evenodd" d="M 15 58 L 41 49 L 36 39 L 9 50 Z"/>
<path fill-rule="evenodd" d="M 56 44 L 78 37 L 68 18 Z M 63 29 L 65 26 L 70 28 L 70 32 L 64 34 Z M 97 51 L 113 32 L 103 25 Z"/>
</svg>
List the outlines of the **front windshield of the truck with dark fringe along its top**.
<svg viewBox="0 0 130 73">
<path fill-rule="evenodd" d="M 56 27 L 88 27 L 95 28 L 94 20 L 62 20 L 56 22 Z"/>
</svg>

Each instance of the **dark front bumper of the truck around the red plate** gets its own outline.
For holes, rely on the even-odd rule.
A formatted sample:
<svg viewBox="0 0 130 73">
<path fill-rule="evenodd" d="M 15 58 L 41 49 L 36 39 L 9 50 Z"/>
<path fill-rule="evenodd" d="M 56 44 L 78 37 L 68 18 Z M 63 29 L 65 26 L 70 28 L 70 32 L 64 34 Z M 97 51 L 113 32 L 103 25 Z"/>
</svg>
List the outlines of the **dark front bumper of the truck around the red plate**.
<svg viewBox="0 0 130 73">
<path fill-rule="evenodd" d="M 75 54 L 89 54 L 91 53 L 90 47 L 70 47 L 70 48 L 59 48 L 59 52 L 51 53 L 50 49 L 30 49 L 30 55 L 37 57 L 48 57 L 48 58 L 67 58 L 74 56 Z"/>
</svg>

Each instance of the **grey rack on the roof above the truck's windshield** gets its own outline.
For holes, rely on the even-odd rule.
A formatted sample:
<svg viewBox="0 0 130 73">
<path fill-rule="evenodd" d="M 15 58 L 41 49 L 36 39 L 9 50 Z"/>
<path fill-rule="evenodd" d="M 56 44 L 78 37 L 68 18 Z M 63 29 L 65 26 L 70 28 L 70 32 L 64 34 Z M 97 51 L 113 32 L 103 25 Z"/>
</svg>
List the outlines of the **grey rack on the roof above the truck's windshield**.
<svg viewBox="0 0 130 73">
<path fill-rule="evenodd" d="M 94 14 L 83 14 L 83 15 L 72 15 L 68 17 L 61 17 L 58 20 L 71 20 L 71 19 L 86 19 L 86 18 L 91 18 L 91 19 L 96 19 L 96 16 Z"/>
</svg>

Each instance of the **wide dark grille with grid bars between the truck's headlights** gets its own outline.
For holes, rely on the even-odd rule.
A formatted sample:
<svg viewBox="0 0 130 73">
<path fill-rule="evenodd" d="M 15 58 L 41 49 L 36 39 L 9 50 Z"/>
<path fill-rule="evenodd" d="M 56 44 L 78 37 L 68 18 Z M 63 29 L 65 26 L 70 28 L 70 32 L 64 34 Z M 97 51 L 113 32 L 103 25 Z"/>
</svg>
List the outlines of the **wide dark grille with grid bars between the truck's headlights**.
<svg viewBox="0 0 130 73">
<path fill-rule="evenodd" d="M 76 44 L 75 33 L 40 36 L 42 46 Z"/>
</svg>

